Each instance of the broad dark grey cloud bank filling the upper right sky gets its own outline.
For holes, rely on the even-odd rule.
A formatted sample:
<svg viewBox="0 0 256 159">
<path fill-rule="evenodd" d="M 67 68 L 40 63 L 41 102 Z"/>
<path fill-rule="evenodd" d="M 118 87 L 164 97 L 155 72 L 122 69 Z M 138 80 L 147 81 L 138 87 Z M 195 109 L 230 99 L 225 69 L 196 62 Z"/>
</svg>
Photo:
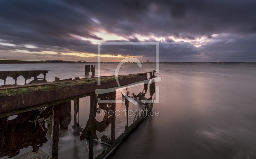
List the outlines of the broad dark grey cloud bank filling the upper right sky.
<svg viewBox="0 0 256 159">
<path fill-rule="evenodd" d="M 192 34 L 256 31 L 254 0 L 147 0 L 117 1 L 113 4 L 85 2 L 81 5 L 89 6 L 93 15 L 107 24 L 109 32 L 124 35 L 154 33 L 158 36 L 182 36 L 182 33 L 189 33 L 193 37 Z"/>
</svg>

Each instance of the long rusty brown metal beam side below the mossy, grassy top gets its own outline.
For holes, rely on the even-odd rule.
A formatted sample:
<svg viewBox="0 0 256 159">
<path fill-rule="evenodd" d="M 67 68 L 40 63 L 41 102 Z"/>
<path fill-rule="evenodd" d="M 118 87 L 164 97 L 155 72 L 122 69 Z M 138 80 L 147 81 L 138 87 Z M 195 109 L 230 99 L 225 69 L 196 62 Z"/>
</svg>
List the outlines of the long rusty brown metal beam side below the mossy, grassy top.
<svg viewBox="0 0 256 159">
<path fill-rule="evenodd" d="M 123 78 L 119 80 L 120 85 L 127 85 L 147 79 L 147 74 L 143 73 L 140 76 L 131 78 Z M 95 84 L 77 85 L 69 88 L 59 88 L 52 90 L 44 90 L 39 92 L 31 92 L 25 94 L 18 94 L 13 96 L 6 96 L 0 98 L 0 114 L 10 112 L 18 109 L 28 108 L 35 105 L 45 104 L 48 102 L 58 101 L 66 98 L 80 96 L 95 92 L 96 89 L 108 89 L 117 87 L 115 80 L 107 83 L 101 83 L 100 86 Z"/>
</svg>

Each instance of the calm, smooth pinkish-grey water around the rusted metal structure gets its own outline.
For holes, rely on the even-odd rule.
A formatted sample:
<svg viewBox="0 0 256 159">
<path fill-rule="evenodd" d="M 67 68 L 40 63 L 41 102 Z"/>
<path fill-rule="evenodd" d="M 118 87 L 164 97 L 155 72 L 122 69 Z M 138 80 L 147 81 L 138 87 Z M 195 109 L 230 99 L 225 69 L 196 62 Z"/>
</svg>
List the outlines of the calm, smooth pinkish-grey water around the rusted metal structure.
<svg viewBox="0 0 256 159">
<path fill-rule="evenodd" d="M 101 64 L 101 76 L 114 75 L 116 66 Z M 143 64 L 142 68 L 123 64 L 119 75 L 153 69 L 154 64 Z M 55 76 L 84 77 L 84 64 L 1 64 L 0 70 L 50 70 L 47 81 L 54 81 Z M 156 76 L 161 76 L 162 81 L 156 83 L 160 99 L 153 110 L 160 115 L 146 118 L 110 158 L 256 158 L 255 64 L 160 64 Z M 6 84 L 14 84 L 14 80 L 8 77 Z M 23 77 L 17 84 L 24 84 Z M 117 98 L 122 97 L 119 94 Z M 82 127 L 88 120 L 89 101 L 88 97 L 80 99 Z M 122 105 L 117 107 L 121 109 Z M 68 126 L 71 130 L 73 112 Z M 124 125 L 120 117 L 116 137 Z M 86 158 L 86 142 L 69 129 L 60 129 L 59 158 Z M 48 128 L 48 140 L 50 136 Z M 39 149 L 47 153 L 48 148 L 49 141 Z M 100 153 L 107 147 L 96 143 L 95 148 Z M 23 148 L 20 154 L 31 149 Z"/>
</svg>

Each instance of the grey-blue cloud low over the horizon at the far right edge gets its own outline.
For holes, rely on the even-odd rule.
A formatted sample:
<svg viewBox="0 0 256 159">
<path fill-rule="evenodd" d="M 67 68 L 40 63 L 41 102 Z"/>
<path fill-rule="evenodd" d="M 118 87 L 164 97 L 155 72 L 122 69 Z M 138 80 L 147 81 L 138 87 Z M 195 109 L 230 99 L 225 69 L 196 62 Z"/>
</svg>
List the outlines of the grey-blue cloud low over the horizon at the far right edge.
<svg viewBox="0 0 256 159">
<path fill-rule="evenodd" d="M 202 46 L 199 51 L 211 61 L 256 61 L 256 34 L 248 36 L 223 35 L 213 37 L 212 42 Z"/>
</svg>

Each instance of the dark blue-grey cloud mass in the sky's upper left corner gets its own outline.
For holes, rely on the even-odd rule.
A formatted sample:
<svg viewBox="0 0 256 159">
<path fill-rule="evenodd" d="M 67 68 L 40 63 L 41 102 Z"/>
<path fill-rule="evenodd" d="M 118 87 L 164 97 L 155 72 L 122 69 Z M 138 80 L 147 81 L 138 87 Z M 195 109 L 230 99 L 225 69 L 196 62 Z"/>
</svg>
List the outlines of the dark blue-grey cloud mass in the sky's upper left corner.
<svg viewBox="0 0 256 159">
<path fill-rule="evenodd" d="M 89 34 L 91 19 L 86 10 L 79 11 L 65 2 L 10 0 L 1 1 L 0 6 L 1 37 L 34 38 L 45 42 L 45 38 L 65 39 L 75 34 L 101 40 Z"/>
</svg>

